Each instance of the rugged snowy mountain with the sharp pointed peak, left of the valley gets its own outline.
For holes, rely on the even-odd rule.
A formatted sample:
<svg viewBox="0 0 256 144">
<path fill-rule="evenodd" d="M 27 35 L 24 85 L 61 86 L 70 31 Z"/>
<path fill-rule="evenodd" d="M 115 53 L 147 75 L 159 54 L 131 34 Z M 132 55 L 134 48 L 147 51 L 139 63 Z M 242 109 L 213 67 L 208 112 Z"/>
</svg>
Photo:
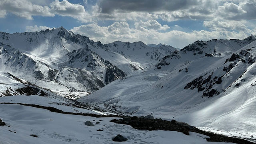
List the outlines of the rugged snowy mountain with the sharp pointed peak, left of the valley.
<svg viewBox="0 0 256 144">
<path fill-rule="evenodd" d="M 149 68 L 172 48 L 143 42 L 101 44 L 63 27 L 40 32 L 0 32 L 0 71 L 67 98 L 90 94 L 136 70 Z"/>
</svg>

